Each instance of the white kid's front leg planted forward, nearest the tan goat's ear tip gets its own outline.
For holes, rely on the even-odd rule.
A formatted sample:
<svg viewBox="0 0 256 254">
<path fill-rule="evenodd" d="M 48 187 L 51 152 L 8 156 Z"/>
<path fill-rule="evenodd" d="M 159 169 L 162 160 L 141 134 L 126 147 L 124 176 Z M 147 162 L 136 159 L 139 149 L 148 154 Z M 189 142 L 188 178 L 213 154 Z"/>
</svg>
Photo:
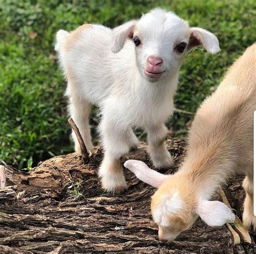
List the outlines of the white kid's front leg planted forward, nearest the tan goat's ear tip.
<svg viewBox="0 0 256 254">
<path fill-rule="evenodd" d="M 131 132 L 130 130 L 120 130 L 120 126 L 104 119 L 99 130 L 102 134 L 105 151 L 98 172 L 102 188 L 110 193 L 120 193 L 127 188 L 121 157 L 129 152 L 131 143 L 128 140 L 130 140 Z"/>
</svg>

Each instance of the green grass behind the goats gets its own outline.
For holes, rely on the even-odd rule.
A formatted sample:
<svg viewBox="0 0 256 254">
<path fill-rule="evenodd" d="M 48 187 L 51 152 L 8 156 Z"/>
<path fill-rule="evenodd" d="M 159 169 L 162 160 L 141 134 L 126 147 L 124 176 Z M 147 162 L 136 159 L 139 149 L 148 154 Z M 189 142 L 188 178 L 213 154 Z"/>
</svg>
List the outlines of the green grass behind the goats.
<svg viewBox="0 0 256 254">
<path fill-rule="evenodd" d="M 180 72 L 176 107 L 192 113 L 228 66 L 255 41 L 253 0 L 155 2 L 0 1 L 0 163 L 31 167 L 31 161 L 35 165 L 72 151 L 66 84 L 54 51 L 59 29 L 73 30 L 83 23 L 114 27 L 160 6 L 189 20 L 191 26 L 212 31 L 221 52 L 193 51 Z M 95 115 L 96 110 L 92 125 L 98 122 Z M 183 136 L 192 117 L 176 112 L 167 125 L 173 135 Z"/>
</svg>

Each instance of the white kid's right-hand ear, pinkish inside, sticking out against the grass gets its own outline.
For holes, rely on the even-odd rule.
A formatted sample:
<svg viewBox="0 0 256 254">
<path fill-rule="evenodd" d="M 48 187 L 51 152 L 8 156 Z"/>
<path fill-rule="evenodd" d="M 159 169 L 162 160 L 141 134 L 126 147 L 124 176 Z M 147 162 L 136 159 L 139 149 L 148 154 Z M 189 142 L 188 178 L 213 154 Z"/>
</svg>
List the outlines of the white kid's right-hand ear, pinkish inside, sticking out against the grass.
<svg viewBox="0 0 256 254">
<path fill-rule="evenodd" d="M 204 46 L 207 52 L 211 54 L 220 51 L 219 40 L 213 33 L 199 27 L 191 27 L 188 49 L 192 50 L 192 48 L 200 45 Z"/>
</svg>

